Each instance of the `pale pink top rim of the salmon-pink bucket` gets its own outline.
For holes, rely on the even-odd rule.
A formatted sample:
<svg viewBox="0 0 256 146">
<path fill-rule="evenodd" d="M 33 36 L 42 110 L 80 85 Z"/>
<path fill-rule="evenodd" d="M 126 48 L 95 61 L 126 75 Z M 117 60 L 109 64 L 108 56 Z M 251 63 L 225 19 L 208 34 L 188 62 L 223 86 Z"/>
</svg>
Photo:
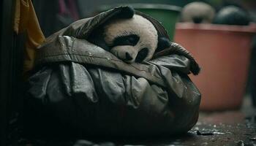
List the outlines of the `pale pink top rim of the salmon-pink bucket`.
<svg viewBox="0 0 256 146">
<path fill-rule="evenodd" d="M 231 26 L 211 23 L 176 23 L 176 29 L 195 31 L 228 31 L 236 33 L 256 34 L 256 23 L 250 23 L 249 26 Z"/>
</svg>

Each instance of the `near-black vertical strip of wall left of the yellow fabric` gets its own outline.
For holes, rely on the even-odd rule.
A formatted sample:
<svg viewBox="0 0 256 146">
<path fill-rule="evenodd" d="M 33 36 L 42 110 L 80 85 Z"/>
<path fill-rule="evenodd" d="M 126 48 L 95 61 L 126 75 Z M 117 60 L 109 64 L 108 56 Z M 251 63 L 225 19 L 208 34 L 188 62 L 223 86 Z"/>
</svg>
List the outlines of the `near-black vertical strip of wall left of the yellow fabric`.
<svg viewBox="0 0 256 146">
<path fill-rule="evenodd" d="M 13 1 L 0 1 L 0 145 L 7 144 L 8 121 L 12 112 L 11 100 L 14 86 L 12 18 Z"/>
</svg>

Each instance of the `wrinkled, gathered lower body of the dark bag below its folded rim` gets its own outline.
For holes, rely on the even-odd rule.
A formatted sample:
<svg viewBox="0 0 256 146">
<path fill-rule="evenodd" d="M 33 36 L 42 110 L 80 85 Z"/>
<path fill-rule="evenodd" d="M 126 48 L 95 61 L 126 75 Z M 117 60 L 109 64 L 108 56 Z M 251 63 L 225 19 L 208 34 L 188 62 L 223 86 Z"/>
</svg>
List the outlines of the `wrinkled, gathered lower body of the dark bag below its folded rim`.
<svg viewBox="0 0 256 146">
<path fill-rule="evenodd" d="M 44 137 L 187 132 L 197 122 L 200 104 L 199 91 L 184 73 L 188 64 L 179 55 L 148 63 L 165 85 L 88 64 L 42 66 L 29 78 L 26 127 Z"/>
</svg>

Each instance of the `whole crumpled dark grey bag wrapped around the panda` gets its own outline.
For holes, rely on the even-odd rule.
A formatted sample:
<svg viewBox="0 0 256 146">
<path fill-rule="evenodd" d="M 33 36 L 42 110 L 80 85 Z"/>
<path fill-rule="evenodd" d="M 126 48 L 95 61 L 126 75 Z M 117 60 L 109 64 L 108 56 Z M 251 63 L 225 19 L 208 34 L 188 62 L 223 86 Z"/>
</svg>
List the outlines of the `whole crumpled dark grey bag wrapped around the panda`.
<svg viewBox="0 0 256 146">
<path fill-rule="evenodd" d="M 181 134 L 195 125 L 200 92 L 188 74 L 199 66 L 187 50 L 172 43 L 151 61 L 126 64 L 86 40 L 91 29 L 125 10 L 78 20 L 39 47 L 27 82 L 28 134 L 147 137 Z"/>
</svg>

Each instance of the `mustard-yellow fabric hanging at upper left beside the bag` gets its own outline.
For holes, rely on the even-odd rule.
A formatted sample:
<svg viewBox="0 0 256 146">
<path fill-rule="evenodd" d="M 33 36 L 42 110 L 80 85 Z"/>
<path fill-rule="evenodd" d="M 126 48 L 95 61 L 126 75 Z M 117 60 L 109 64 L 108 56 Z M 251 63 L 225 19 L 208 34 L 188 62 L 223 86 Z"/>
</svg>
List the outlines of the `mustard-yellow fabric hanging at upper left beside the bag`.
<svg viewBox="0 0 256 146">
<path fill-rule="evenodd" d="M 16 0 L 14 31 L 17 34 L 26 33 L 27 36 L 23 66 L 26 73 L 34 66 L 37 47 L 45 41 L 31 0 Z"/>
</svg>

